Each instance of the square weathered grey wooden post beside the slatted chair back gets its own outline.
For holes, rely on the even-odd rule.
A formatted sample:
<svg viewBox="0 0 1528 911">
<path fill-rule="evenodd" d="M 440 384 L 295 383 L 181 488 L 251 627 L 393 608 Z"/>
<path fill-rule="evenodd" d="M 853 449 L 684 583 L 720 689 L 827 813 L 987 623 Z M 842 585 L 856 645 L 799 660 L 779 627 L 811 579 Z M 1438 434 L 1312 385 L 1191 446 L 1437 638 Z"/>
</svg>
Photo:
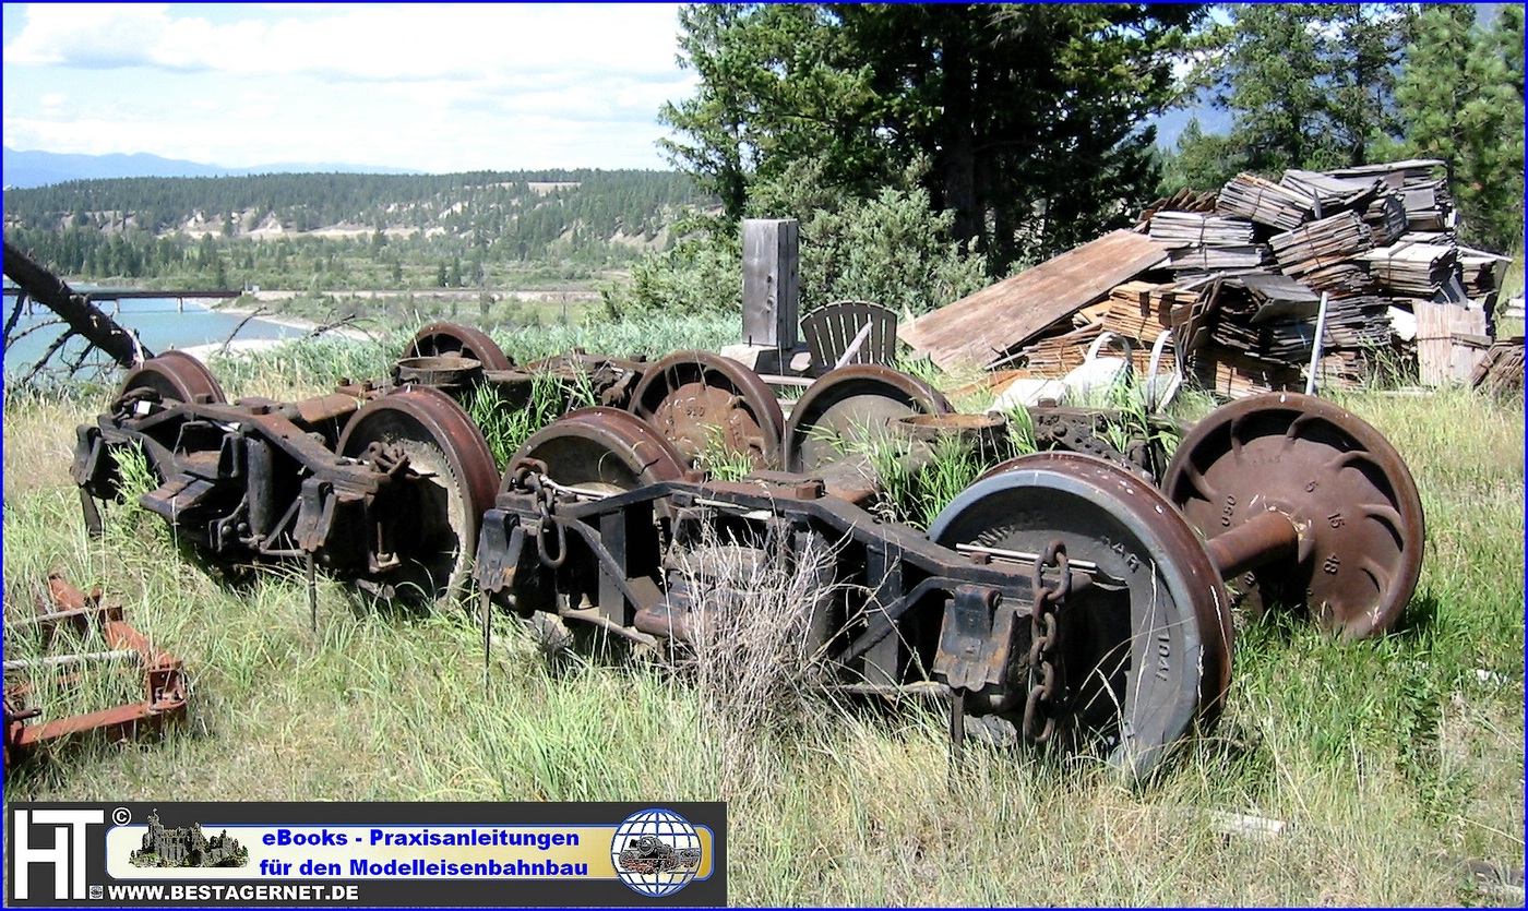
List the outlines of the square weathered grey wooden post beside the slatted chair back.
<svg viewBox="0 0 1528 911">
<path fill-rule="evenodd" d="M 799 226 L 795 219 L 743 220 L 743 341 L 795 349 L 801 323 Z"/>
</svg>

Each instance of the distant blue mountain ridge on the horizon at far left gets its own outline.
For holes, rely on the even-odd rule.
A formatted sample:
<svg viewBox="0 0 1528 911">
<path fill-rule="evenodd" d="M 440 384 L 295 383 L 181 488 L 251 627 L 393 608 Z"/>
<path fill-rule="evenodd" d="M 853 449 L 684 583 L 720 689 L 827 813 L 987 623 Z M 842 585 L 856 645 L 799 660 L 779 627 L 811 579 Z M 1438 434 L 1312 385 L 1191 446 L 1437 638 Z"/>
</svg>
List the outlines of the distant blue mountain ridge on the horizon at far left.
<svg viewBox="0 0 1528 911">
<path fill-rule="evenodd" d="M 417 174 L 408 168 L 341 164 L 275 164 L 254 168 L 223 168 L 157 154 L 55 154 L 52 151 L 17 151 L 5 148 L 0 179 L 8 188 L 47 186 L 64 180 L 98 180 L 108 177 L 240 177 L 248 174 Z"/>
</svg>

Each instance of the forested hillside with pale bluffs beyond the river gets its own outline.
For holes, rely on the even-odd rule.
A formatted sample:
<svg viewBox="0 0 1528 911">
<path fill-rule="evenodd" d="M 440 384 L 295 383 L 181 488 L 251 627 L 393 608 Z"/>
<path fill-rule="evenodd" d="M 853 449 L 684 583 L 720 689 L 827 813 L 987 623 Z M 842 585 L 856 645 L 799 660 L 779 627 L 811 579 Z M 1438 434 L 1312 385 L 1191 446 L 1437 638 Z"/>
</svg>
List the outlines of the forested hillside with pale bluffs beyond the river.
<svg viewBox="0 0 1528 911">
<path fill-rule="evenodd" d="M 136 177 L 11 190 L 5 235 L 87 278 L 477 287 L 495 266 L 620 266 L 707 205 L 665 171 Z"/>
</svg>

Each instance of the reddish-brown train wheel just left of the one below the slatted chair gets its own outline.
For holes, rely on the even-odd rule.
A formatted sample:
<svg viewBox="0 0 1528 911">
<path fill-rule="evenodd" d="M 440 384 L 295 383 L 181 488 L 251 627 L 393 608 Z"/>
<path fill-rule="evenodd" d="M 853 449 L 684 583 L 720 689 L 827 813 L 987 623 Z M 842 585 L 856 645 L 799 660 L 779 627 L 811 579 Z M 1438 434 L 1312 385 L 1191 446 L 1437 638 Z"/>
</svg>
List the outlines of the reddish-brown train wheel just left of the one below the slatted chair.
<svg viewBox="0 0 1528 911">
<path fill-rule="evenodd" d="M 779 468 L 785 419 L 756 373 L 711 352 L 675 352 L 642 374 L 628 408 L 695 466 L 721 448 Z"/>
</svg>

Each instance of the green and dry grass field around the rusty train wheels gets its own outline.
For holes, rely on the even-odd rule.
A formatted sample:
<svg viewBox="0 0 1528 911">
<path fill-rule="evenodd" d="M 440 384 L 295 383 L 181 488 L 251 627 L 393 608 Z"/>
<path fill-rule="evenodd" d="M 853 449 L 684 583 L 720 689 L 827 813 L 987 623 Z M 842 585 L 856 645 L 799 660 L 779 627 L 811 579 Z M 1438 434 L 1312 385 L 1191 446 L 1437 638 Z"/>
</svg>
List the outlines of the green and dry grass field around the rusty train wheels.
<svg viewBox="0 0 1528 911">
<path fill-rule="evenodd" d="M 712 347 L 733 330 L 672 326 L 500 341 L 526 361 L 573 344 Z M 318 342 L 214 370 L 231 397 L 290 397 L 380 376 L 400 347 Z M 952 769 L 935 711 L 834 705 L 801 692 L 790 660 L 762 679 L 727 673 L 759 650 L 788 654 L 779 637 L 701 650 L 675 673 L 500 622 L 484 686 L 465 614 L 384 616 L 321 581 L 310 630 L 295 570 L 225 587 L 133 504 L 107 511 L 104 540 L 86 537 L 73 426 L 108 397 L 6 400 L 6 611 L 31 610 L 53 570 L 102 585 L 186 659 L 191 723 L 44 754 L 11 775 L 14 799 L 721 798 L 740 905 L 1522 903 L 1520 885 L 1464 867 L 1523 867 L 1520 399 L 1345 396 L 1421 489 L 1427 555 L 1403 624 L 1357 644 L 1297 618 L 1245 625 L 1221 725 L 1128 787 L 1093 763 L 992 747 Z M 67 694 L 44 697 L 70 711 Z M 1233 815 L 1285 825 L 1229 835 Z"/>
</svg>

